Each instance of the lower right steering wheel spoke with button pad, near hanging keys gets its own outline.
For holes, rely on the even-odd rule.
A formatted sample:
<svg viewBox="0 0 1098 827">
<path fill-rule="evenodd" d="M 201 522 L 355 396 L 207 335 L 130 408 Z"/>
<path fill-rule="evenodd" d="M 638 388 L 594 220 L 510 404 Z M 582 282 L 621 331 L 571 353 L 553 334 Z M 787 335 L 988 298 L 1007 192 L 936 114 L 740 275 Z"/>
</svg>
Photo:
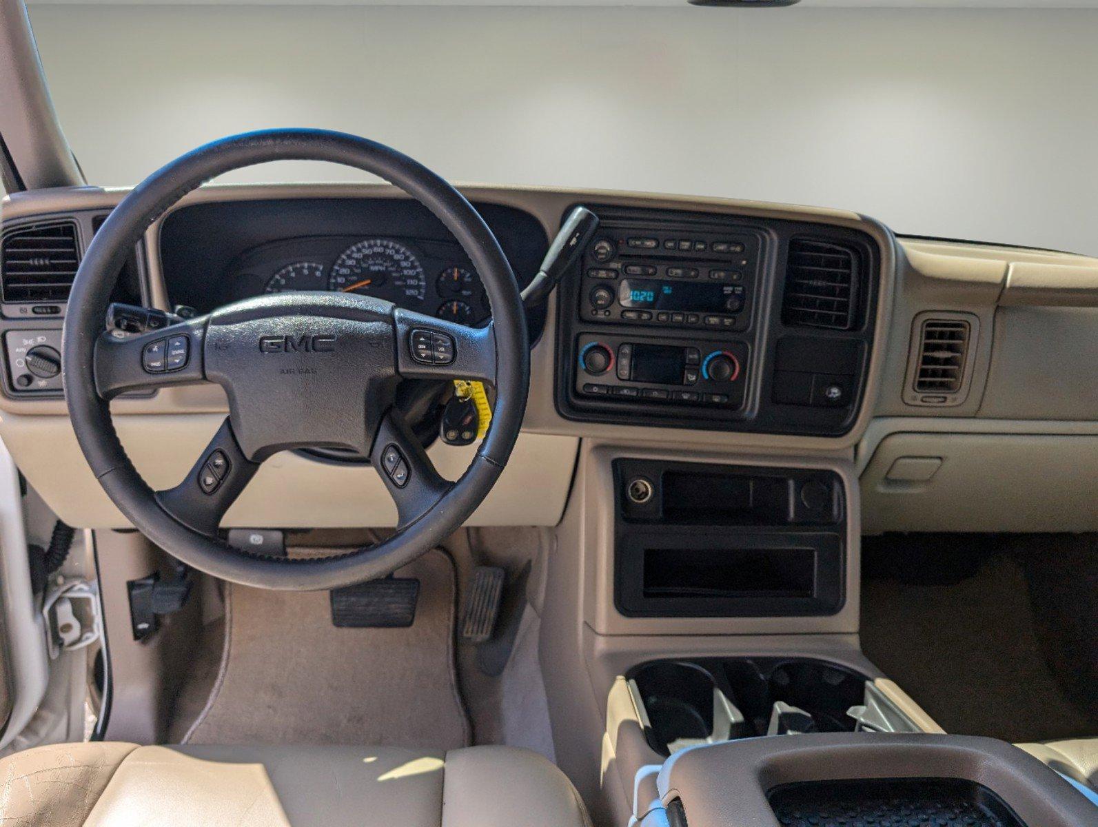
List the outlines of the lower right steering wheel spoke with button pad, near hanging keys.
<svg viewBox="0 0 1098 827">
<path fill-rule="evenodd" d="M 438 473 L 396 409 L 390 409 L 381 420 L 370 462 L 396 503 L 396 524 L 401 529 L 430 511 L 453 487 Z"/>
</svg>

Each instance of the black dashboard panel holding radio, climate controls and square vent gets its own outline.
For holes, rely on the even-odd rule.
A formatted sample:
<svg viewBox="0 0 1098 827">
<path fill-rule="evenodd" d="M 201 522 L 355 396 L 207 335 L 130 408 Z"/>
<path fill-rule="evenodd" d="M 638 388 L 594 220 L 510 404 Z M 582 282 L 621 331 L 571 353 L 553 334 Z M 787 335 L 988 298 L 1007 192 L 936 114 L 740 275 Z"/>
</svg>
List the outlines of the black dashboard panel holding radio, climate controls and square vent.
<svg viewBox="0 0 1098 827">
<path fill-rule="evenodd" d="M 591 208 L 559 290 L 573 420 L 838 436 L 861 403 L 879 256 L 827 224 Z"/>
</svg>

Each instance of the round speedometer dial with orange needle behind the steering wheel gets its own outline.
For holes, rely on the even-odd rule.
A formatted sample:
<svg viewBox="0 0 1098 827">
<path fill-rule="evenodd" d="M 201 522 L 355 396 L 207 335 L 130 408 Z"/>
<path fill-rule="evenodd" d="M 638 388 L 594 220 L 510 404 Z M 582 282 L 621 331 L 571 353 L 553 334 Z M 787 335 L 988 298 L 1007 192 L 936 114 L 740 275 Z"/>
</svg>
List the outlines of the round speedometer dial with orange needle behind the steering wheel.
<svg viewBox="0 0 1098 827">
<path fill-rule="evenodd" d="M 419 259 L 403 244 L 367 238 L 339 256 L 332 267 L 328 289 L 414 304 L 427 294 L 427 275 Z"/>
</svg>

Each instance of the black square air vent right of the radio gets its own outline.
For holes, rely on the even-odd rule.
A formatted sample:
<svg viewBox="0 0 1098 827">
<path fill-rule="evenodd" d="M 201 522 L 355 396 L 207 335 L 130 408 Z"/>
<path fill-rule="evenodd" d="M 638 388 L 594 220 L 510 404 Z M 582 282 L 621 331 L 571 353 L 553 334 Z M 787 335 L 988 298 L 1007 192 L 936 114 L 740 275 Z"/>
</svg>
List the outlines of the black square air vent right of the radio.
<svg viewBox="0 0 1098 827">
<path fill-rule="evenodd" d="M 841 244 L 794 238 L 785 264 L 782 322 L 849 331 L 858 309 L 859 257 Z"/>
</svg>

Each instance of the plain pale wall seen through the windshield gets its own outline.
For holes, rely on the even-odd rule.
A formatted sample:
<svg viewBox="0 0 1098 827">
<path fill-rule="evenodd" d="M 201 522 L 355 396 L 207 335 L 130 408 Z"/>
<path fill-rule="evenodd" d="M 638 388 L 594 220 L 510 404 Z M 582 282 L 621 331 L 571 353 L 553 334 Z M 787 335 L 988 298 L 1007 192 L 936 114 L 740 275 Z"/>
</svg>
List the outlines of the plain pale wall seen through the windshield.
<svg viewBox="0 0 1098 827">
<path fill-rule="evenodd" d="M 1098 11 L 31 7 L 96 183 L 323 126 L 463 181 L 858 210 L 1098 254 Z M 235 180 L 339 180 L 279 165 Z"/>
</svg>

